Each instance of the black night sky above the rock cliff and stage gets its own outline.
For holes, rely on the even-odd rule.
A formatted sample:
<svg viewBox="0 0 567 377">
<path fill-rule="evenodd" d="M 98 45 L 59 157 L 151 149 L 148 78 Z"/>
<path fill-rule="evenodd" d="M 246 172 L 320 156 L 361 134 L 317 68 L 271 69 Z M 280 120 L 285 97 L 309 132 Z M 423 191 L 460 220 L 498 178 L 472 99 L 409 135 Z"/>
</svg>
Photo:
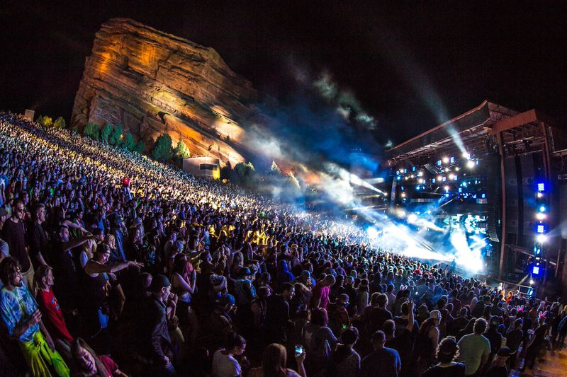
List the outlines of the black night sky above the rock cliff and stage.
<svg viewBox="0 0 567 377">
<path fill-rule="evenodd" d="M 304 2 L 4 1 L 0 108 L 68 121 L 94 33 L 108 18 L 128 17 L 213 47 L 282 103 L 293 98 L 298 69 L 327 72 L 394 142 L 485 98 L 567 114 L 567 5 L 560 2 Z"/>
</svg>

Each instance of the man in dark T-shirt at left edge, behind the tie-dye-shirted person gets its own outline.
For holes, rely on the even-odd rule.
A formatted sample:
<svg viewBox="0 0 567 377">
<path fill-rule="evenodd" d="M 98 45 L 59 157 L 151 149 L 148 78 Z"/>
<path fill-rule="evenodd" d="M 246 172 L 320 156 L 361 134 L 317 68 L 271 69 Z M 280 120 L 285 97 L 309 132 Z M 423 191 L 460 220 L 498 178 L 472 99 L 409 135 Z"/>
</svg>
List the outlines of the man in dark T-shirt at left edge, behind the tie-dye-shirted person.
<svg viewBox="0 0 567 377">
<path fill-rule="evenodd" d="M 33 289 L 33 266 L 28 255 L 28 245 L 26 245 L 26 226 L 23 222 L 25 217 L 26 207 L 18 199 L 13 206 L 12 216 L 4 223 L 2 239 L 8 243 L 10 255 L 18 260 L 23 281 L 31 291 Z"/>
</svg>

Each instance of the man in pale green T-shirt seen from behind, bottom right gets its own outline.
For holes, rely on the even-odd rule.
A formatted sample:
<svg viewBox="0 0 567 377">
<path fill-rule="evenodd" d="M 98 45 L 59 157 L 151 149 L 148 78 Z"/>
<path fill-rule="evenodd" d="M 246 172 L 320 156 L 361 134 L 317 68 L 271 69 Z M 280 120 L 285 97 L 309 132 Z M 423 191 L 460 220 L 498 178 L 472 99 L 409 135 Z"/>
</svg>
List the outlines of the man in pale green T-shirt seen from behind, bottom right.
<svg viewBox="0 0 567 377">
<path fill-rule="evenodd" d="M 484 332 L 487 327 L 486 320 L 478 318 L 474 323 L 473 333 L 461 337 L 459 343 L 458 361 L 465 364 L 465 376 L 473 376 L 476 373 L 481 373 L 488 356 L 490 356 L 490 341 L 484 337 Z"/>
</svg>

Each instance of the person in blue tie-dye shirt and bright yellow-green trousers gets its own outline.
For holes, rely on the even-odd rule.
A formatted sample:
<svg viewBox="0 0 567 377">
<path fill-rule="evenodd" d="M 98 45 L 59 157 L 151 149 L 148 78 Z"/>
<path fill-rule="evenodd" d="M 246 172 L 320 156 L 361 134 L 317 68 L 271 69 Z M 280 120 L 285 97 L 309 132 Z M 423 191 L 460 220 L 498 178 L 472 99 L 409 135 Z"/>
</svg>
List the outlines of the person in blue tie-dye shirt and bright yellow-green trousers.
<svg viewBox="0 0 567 377">
<path fill-rule="evenodd" d="M 35 377 L 70 375 L 67 364 L 59 352 L 50 333 L 43 325 L 38 303 L 23 284 L 23 275 L 18 261 L 7 257 L 0 262 L 0 315 L 9 335 L 18 340 L 24 359 Z"/>
</svg>

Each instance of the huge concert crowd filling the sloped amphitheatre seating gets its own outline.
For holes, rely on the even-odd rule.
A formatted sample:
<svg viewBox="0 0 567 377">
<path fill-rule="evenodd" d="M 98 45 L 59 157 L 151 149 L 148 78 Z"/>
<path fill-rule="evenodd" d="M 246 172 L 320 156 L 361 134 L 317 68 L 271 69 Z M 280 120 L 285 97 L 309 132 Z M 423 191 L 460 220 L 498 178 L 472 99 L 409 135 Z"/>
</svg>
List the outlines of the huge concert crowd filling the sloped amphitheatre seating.
<svg viewBox="0 0 567 377">
<path fill-rule="evenodd" d="M 2 376 L 507 376 L 567 335 L 561 303 L 9 112 L 0 229 Z"/>
</svg>

